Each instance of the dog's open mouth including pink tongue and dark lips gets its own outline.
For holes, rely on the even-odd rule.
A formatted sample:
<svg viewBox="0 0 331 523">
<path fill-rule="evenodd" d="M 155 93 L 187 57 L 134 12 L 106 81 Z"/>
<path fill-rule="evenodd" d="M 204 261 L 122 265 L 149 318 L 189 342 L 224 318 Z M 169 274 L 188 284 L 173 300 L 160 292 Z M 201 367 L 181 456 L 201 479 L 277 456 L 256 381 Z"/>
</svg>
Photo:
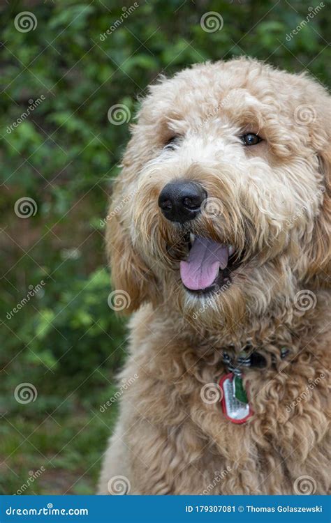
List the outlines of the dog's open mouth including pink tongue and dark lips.
<svg viewBox="0 0 331 523">
<path fill-rule="evenodd" d="M 190 234 L 189 255 L 180 262 L 180 277 L 193 294 L 226 291 L 239 264 L 233 245 Z"/>
</svg>

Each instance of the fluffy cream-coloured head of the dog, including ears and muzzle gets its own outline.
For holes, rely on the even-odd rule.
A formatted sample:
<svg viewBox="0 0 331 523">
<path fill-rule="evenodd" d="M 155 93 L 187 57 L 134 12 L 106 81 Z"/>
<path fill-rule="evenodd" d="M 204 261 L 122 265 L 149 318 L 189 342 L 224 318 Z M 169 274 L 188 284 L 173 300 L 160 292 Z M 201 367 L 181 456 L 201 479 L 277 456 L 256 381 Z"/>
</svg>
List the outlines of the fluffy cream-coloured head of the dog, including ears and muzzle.
<svg viewBox="0 0 331 523">
<path fill-rule="evenodd" d="M 317 82 L 250 59 L 150 87 L 108 223 L 131 310 L 168 301 L 192 314 L 207 301 L 203 321 L 240 321 L 326 285 L 328 108 Z"/>
</svg>

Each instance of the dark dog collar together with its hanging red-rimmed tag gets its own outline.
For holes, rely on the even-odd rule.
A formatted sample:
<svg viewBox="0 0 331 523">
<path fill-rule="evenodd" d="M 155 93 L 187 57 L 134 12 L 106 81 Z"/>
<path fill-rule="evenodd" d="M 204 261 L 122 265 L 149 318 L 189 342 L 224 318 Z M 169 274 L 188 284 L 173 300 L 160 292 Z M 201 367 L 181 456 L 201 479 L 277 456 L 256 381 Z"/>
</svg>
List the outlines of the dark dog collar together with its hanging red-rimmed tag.
<svg viewBox="0 0 331 523">
<path fill-rule="evenodd" d="M 289 352 L 289 349 L 283 347 L 280 358 L 286 358 Z M 276 362 L 276 356 L 272 355 L 272 364 L 275 365 Z M 267 366 L 267 360 L 263 354 L 258 352 L 249 354 L 249 350 L 244 349 L 236 359 L 231 358 L 226 351 L 223 351 L 223 363 L 230 371 L 219 381 L 223 414 L 232 423 L 245 423 L 251 418 L 253 411 L 249 404 L 249 393 L 245 391 L 242 381 L 242 368 L 263 368 Z"/>
</svg>

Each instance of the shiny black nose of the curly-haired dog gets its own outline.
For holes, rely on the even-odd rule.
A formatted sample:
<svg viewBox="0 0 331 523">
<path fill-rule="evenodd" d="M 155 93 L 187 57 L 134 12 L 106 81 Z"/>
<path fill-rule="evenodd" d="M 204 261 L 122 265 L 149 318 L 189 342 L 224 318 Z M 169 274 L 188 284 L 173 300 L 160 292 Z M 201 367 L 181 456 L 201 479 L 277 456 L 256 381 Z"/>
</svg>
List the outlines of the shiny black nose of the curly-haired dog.
<svg viewBox="0 0 331 523">
<path fill-rule="evenodd" d="M 196 218 L 206 198 L 207 192 L 200 183 L 188 180 L 172 181 L 161 190 L 159 207 L 168 220 L 184 223 Z"/>
</svg>

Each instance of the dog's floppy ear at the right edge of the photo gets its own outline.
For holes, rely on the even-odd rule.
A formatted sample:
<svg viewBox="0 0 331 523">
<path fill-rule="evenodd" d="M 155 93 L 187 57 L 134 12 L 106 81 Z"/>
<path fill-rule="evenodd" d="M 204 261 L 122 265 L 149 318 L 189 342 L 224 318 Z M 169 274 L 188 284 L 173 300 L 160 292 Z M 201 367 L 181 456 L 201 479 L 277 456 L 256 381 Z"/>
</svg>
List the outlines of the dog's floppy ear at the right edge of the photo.
<svg viewBox="0 0 331 523">
<path fill-rule="evenodd" d="M 330 142 L 329 142 L 330 143 Z M 331 147 L 319 153 L 320 169 L 323 174 L 323 202 L 316 217 L 313 238 L 308 251 L 306 280 L 314 287 L 331 287 Z"/>
</svg>

